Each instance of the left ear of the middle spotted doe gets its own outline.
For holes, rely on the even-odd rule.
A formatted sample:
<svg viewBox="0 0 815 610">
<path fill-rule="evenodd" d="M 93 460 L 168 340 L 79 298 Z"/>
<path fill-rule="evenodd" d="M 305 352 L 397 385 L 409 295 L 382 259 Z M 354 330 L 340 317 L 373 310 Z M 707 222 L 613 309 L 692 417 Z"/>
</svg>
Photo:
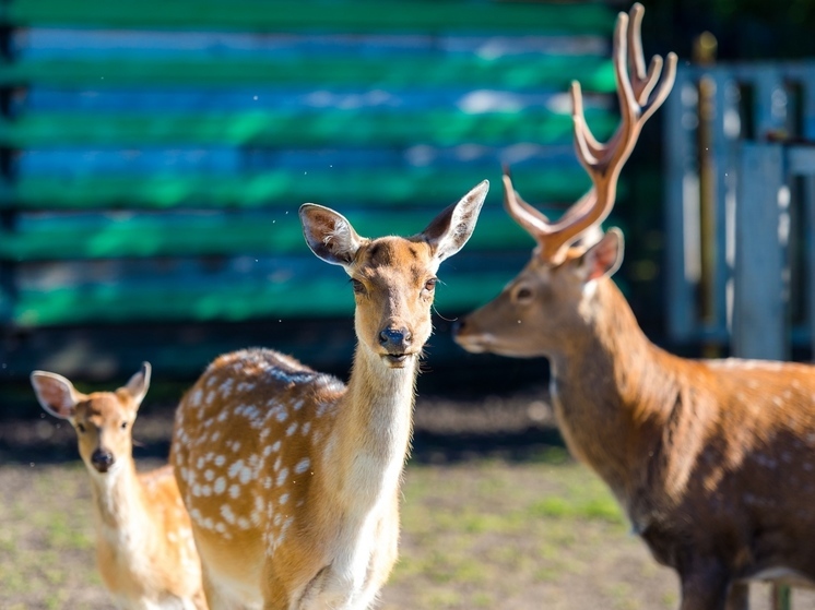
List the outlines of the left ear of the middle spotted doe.
<svg viewBox="0 0 815 610">
<path fill-rule="evenodd" d="M 300 223 L 311 252 L 332 265 L 350 265 L 364 242 L 345 216 L 322 205 L 304 203 Z"/>
</svg>

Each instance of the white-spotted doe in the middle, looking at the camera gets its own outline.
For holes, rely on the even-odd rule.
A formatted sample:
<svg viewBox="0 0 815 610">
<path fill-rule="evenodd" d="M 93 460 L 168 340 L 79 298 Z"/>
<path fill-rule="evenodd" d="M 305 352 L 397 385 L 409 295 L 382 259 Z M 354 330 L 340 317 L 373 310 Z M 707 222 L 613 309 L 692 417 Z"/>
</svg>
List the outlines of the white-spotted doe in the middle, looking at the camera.
<svg viewBox="0 0 815 610">
<path fill-rule="evenodd" d="M 439 263 L 470 238 L 487 183 L 421 234 L 366 239 L 305 204 L 308 246 L 351 276 L 347 386 L 270 349 L 217 358 L 178 407 L 170 462 L 213 610 L 362 610 L 397 559 L 399 489 Z"/>
</svg>

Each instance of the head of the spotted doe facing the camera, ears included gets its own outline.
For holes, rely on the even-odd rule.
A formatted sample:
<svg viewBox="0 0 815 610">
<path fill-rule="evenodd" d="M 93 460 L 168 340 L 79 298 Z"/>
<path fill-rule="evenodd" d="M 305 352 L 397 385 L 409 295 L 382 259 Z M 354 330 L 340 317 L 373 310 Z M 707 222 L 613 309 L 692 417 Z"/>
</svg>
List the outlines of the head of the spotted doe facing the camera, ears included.
<svg viewBox="0 0 815 610">
<path fill-rule="evenodd" d="M 456 254 L 475 228 L 489 184 L 480 183 L 412 237 L 359 237 L 341 214 L 312 203 L 300 207 L 303 232 L 311 251 L 342 265 L 356 301 L 359 349 L 388 367 L 417 359 L 430 336 L 430 306 L 439 263 Z"/>
</svg>

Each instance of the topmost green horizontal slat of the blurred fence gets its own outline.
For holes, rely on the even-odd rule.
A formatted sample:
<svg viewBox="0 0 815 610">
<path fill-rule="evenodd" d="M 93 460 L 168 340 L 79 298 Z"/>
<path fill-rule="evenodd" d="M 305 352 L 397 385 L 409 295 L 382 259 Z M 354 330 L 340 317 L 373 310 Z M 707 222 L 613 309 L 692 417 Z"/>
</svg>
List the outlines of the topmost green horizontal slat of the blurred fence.
<svg viewBox="0 0 815 610">
<path fill-rule="evenodd" d="M 513 31 L 609 33 L 612 12 L 599 3 L 354 0 L 14 0 L 0 5 L 14 25 L 215 27 L 249 31 Z"/>
</svg>

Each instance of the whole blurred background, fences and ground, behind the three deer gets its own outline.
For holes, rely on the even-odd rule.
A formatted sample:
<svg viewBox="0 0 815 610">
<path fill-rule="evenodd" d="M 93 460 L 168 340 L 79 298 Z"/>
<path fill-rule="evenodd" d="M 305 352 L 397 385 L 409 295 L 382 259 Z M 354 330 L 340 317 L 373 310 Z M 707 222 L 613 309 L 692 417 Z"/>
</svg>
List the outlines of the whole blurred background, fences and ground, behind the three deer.
<svg viewBox="0 0 815 610">
<path fill-rule="evenodd" d="M 810 360 L 815 0 L 642 3 L 646 57 L 676 51 L 680 70 L 607 220 L 626 236 L 615 280 L 671 351 Z M 675 608 L 674 575 L 568 459 L 546 361 L 466 354 L 450 333 L 533 246 L 501 208 L 501 166 L 554 217 L 588 189 L 567 89 L 581 82 L 607 137 L 629 8 L 0 2 L 3 608 L 108 607 L 74 435 L 37 407 L 33 369 L 88 391 L 151 361 L 135 455 L 157 465 L 218 354 L 268 346 L 346 378 L 351 286 L 306 247 L 302 203 L 412 235 L 483 179 L 475 234 L 439 273 L 383 608 Z"/>
</svg>

